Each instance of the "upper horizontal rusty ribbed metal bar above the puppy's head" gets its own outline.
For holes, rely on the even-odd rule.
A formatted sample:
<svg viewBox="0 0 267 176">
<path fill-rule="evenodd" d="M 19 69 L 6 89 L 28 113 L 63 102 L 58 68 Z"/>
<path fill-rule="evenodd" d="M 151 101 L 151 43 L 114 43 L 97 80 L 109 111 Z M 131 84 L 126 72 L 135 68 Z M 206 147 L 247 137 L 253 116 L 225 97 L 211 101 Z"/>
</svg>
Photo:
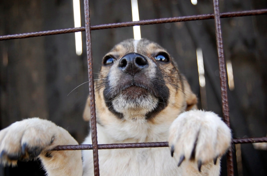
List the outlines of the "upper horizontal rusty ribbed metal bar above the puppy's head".
<svg viewBox="0 0 267 176">
<path fill-rule="evenodd" d="M 241 11 L 241 12 L 226 12 L 226 13 L 221 13 L 220 17 L 229 18 L 229 17 L 243 17 L 243 16 L 266 15 L 266 14 L 267 14 L 267 9 L 260 9 L 260 10 Z M 182 21 L 208 20 L 208 19 L 214 19 L 214 15 L 213 14 L 193 15 L 193 16 L 185 16 L 185 17 L 159 18 L 159 19 L 153 19 L 153 20 L 140 20 L 140 21 L 131 21 L 131 22 L 124 22 L 124 23 L 93 25 L 91 26 L 91 31 L 100 30 L 100 29 L 110 29 L 110 28 L 122 28 L 122 27 L 134 26 L 134 25 L 150 25 L 150 24 L 174 23 L 174 22 L 182 22 Z M 49 35 L 56 35 L 56 34 L 63 34 L 63 33 L 73 33 L 73 32 L 80 32 L 80 31 L 85 31 L 85 27 L 6 35 L 6 36 L 0 36 L 0 41 L 10 40 L 10 39 L 25 39 L 25 38 L 38 37 L 38 36 L 49 36 Z"/>
</svg>

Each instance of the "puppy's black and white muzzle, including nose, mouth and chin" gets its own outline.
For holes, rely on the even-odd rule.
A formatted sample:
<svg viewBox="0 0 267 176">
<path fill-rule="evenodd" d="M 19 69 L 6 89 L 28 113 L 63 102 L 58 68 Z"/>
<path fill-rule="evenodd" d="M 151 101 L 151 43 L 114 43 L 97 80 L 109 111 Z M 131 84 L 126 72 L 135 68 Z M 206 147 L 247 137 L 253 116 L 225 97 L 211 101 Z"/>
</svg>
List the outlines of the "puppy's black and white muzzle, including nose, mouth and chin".
<svg viewBox="0 0 267 176">
<path fill-rule="evenodd" d="M 143 119 L 149 119 L 168 105 L 169 89 L 149 57 L 134 52 L 124 55 L 112 65 L 107 79 L 105 103 L 118 118 L 131 110 L 131 114 L 142 113 Z"/>
</svg>

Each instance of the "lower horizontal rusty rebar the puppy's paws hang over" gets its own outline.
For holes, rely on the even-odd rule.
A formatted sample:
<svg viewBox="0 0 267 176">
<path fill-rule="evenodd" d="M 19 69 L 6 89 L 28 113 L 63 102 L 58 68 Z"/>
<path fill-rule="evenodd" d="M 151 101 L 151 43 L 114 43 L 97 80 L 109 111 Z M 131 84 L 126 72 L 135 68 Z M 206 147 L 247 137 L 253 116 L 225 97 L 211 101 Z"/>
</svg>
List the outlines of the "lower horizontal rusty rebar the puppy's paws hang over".
<svg viewBox="0 0 267 176">
<path fill-rule="evenodd" d="M 262 143 L 267 142 L 267 137 L 256 138 L 240 138 L 233 139 L 233 144 L 244 143 Z M 168 142 L 154 142 L 154 143 L 123 143 L 123 144 L 98 144 L 98 149 L 117 149 L 117 148 L 150 148 L 150 147 L 168 147 Z M 59 145 L 53 150 L 92 150 L 93 146 L 90 144 L 83 145 Z"/>
</svg>

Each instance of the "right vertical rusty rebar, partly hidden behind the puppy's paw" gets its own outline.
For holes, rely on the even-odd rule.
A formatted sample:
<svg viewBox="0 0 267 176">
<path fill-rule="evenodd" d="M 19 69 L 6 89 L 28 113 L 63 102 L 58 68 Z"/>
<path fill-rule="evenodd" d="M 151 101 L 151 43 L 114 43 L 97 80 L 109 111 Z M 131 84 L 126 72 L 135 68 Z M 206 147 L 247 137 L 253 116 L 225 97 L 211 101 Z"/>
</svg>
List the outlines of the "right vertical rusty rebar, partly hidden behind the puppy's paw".
<svg viewBox="0 0 267 176">
<path fill-rule="evenodd" d="M 220 82 L 221 82 L 221 94 L 222 94 L 222 113 L 225 123 L 230 127 L 229 120 L 229 108 L 228 108 L 228 98 L 227 98 L 227 84 L 226 84 L 226 73 L 225 73 L 225 61 L 223 55 L 222 46 L 222 32 L 220 24 L 220 11 L 218 0 L 213 0 L 214 8 L 214 20 L 215 20 L 215 30 L 216 30 L 216 41 L 217 41 L 217 51 L 219 59 L 219 71 L 220 71 Z M 228 176 L 233 176 L 233 157 L 232 150 L 229 149 L 227 153 L 227 173 Z"/>
</svg>

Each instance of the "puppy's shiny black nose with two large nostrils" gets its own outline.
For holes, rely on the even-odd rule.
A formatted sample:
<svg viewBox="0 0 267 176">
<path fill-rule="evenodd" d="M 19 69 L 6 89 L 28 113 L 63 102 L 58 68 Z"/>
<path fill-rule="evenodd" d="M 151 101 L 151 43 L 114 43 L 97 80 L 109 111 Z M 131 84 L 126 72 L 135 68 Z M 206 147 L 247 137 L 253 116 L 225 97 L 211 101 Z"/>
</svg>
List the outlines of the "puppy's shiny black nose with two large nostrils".
<svg viewBox="0 0 267 176">
<path fill-rule="evenodd" d="M 148 66 L 147 59 L 138 53 L 128 53 L 119 62 L 119 68 L 129 74 L 136 74 Z"/>
</svg>

